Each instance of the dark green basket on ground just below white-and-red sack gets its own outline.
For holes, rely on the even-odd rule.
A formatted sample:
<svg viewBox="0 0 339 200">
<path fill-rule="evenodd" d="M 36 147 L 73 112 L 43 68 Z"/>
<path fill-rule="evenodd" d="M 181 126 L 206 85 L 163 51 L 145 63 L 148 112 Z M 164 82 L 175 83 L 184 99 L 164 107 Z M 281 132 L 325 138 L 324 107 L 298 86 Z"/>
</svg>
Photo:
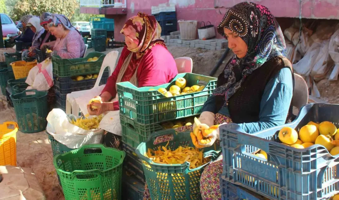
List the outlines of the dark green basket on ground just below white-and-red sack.
<svg viewBox="0 0 339 200">
<path fill-rule="evenodd" d="M 21 132 L 37 133 L 46 129 L 47 93 L 47 91 L 25 90 L 18 94 L 11 94 Z"/>
</svg>

